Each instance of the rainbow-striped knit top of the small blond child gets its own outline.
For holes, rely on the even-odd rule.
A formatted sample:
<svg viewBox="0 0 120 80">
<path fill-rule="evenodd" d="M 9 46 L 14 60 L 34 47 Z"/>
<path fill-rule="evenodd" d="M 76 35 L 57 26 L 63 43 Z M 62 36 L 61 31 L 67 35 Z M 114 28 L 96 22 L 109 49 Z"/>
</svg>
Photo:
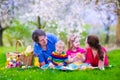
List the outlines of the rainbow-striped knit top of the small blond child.
<svg viewBox="0 0 120 80">
<path fill-rule="evenodd" d="M 68 57 L 65 52 L 58 54 L 57 52 L 52 52 L 51 56 L 48 57 L 48 62 L 52 62 L 54 65 L 58 66 L 58 64 L 63 63 L 64 66 L 68 63 Z"/>
</svg>

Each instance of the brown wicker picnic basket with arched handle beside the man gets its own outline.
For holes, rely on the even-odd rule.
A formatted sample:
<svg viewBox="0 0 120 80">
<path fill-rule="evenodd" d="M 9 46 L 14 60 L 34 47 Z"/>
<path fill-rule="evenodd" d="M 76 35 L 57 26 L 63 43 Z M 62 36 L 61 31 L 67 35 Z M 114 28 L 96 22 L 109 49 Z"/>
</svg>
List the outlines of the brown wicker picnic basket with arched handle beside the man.
<svg viewBox="0 0 120 80">
<path fill-rule="evenodd" d="M 32 65 L 32 61 L 33 61 L 33 51 L 31 51 L 30 54 L 26 56 L 24 54 L 25 53 L 24 50 L 22 50 L 22 52 L 18 52 L 18 44 L 20 44 L 22 46 L 22 49 L 23 49 L 23 42 L 21 40 L 17 40 L 16 41 L 16 46 L 15 46 L 16 51 L 15 52 L 8 52 L 6 54 L 6 58 L 9 58 L 11 56 L 15 56 L 25 66 L 31 66 Z"/>
</svg>

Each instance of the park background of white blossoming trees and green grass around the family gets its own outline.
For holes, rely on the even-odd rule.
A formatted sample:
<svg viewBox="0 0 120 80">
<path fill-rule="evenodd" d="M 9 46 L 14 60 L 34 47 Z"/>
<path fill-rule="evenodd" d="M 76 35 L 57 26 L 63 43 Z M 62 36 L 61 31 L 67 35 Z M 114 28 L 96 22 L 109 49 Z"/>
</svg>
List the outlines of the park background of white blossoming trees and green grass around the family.
<svg viewBox="0 0 120 80">
<path fill-rule="evenodd" d="M 5 54 L 15 51 L 17 40 L 24 46 L 34 44 L 35 29 L 54 33 L 67 45 L 70 34 L 85 38 L 95 34 L 108 50 L 113 67 L 105 71 L 42 71 L 6 69 Z M 120 72 L 120 0 L 0 0 L 0 79 L 2 80 L 119 80 Z M 55 76 L 55 77 L 54 77 Z M 113 77 L 112 77 L 113 76 Z"/>
</svg>

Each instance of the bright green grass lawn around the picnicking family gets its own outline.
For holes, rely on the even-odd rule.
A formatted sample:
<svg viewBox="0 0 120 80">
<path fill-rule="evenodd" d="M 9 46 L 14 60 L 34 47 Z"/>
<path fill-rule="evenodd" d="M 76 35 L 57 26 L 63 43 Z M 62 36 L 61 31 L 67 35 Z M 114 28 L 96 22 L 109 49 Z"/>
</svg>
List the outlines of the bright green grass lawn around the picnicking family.
<svg viewBox="0 0 120 80">
<path fill-rule="evenodd" d="M 6 69 L 5 54 L 14 51 L 14 48 L 0 48 L 0 80 L 120 80 L 120 50 L 108 52 L 109 63 L 113 65 L 104 71 L 98 69 L 84 71 L 60 71 L 29 69 Z"/>
</svg>

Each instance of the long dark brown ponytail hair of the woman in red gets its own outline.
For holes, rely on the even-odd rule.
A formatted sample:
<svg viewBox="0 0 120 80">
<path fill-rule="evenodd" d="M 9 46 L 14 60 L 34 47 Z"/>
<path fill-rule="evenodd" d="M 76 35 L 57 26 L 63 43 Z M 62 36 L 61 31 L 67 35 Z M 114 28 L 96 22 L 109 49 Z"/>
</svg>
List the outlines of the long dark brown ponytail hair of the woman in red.
<svg viewBox="0 0 120 80">
<path fill-rule="evenodd" d="M 89 35 L 87 37 L 87 43 L 89 44 L 90 47 L 98 50 L 98 58 L 103 61 L 104 52 L 103 52 L 102 47 L 99 43 L 98 37 L 95 35 Z"/>
</svg>

